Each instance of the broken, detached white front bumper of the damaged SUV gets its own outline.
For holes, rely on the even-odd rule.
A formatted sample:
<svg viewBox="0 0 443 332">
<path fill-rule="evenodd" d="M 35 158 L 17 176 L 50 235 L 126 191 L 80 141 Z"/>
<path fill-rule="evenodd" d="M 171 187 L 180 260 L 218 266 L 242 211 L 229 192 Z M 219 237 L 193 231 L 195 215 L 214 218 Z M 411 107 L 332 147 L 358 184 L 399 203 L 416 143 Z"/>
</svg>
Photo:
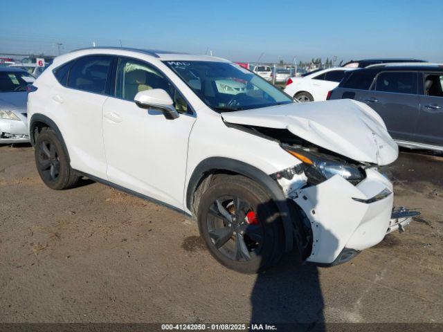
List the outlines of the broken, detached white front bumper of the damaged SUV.
<svg viewBox="0 0 443 332">
<path fill-rule="evenodd" d="M 344 263 L 361 250 L 375 246 L 388 232 L 403 228 L 418 214 L 407 209 L 393 210 L 390 181 L 374 169 L 368 169 L 366 174 L 356 186 L 341 176 L 333 176 L 319 185 L 290 193 L 311 224 L 312 248 L 307 261 L 320 265 Z"/>
</svg>

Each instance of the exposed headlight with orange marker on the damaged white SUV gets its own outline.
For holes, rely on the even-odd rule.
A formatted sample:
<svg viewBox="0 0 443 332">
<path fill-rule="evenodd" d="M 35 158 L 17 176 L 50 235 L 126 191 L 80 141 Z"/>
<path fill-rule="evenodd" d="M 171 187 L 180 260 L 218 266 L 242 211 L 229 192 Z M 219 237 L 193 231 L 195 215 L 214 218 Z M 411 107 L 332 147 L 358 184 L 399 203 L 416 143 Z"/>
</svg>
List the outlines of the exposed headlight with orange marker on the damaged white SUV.
<svg viewBox="0 0 443 332">
<path fill-rule="evenodd" d="M 358 184 L 363 178 L 365 178 L 365 172 L 363 169 L 356 165 L 336 160 L 332 156 L 316 154 L 302 149 L 293 149 L 285 146 L 283 149 L 302 161 L 305 166 L 305 175 L 307 176 L 309 183 L 313 185 L 318 185 L 318 183 L 322 183 L 328 178 L 332 178 L 334 175 L 339 175 L 342 178 L 345 178 L 353 185 Z"/>
</svg>

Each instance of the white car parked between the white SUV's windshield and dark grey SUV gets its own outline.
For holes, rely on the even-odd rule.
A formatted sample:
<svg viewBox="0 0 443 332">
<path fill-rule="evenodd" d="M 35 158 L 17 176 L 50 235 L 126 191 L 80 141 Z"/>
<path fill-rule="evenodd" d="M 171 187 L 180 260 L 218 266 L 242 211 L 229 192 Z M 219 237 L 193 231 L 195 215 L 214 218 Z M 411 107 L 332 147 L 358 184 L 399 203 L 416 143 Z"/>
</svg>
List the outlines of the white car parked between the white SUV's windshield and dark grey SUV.
<svg viewBox="0 0 443 332">
<path fill-rule="evenodd" d="M 326 100 L 327 93 L 334 89 L 345 76 L 348 68 L 328 68 L 313 71 L 302 77 L 290 77 L 284 92 L 299 102 Z"/>
</svg>

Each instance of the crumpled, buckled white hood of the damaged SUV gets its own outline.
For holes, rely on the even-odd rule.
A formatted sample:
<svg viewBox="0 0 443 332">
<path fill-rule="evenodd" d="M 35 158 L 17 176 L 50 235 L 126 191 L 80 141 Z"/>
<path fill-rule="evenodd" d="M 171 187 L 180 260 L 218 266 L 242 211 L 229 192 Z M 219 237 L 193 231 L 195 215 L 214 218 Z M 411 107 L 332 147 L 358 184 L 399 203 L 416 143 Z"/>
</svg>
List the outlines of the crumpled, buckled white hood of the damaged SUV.
<svg viewBox="0 0 443 332">
<path fill-rule="evenodd" d="M 355 100 L 284 104 L 221 116 L 235 124 L 288 129 L 308 142 L 360 162 L 388 165 L 399 153 L 380 116 Z"/>
</svg>

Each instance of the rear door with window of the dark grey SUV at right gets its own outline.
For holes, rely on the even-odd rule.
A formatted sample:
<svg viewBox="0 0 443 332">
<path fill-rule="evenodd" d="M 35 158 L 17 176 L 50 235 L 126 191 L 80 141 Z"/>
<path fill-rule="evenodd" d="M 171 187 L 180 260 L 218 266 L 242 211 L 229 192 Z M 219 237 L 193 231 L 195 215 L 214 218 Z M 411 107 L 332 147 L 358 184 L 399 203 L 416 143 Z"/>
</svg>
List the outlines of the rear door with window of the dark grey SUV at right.
<svg viewBox="0 0 443 332">
<path fill-rule="evenodd" d="M 417 73 L 381 72 L 375 78 L 371 89 L 356 94 L 355 99 L 365 102 L 379 113 L 392 138 L 416 140 L 419 117 Z"/>
</svg>

